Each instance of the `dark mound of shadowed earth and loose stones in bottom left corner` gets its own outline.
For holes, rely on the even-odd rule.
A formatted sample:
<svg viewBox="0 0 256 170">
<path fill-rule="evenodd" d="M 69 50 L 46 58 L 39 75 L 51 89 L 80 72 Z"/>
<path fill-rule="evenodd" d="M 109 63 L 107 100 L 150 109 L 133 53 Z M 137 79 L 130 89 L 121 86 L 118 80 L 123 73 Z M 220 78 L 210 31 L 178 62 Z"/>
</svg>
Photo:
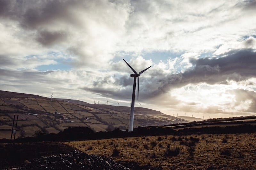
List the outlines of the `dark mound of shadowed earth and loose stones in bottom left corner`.
<svg viewBox="0 0 256 170">
<path fill-rule="evenodd" d="M 56 142 L 0 144 L 0 169 L 161 169 L 149 165 L 139 166 L 136 162 L 124 161 L 122 164 L 109 157 L 86 154 Z"/>
</svg>

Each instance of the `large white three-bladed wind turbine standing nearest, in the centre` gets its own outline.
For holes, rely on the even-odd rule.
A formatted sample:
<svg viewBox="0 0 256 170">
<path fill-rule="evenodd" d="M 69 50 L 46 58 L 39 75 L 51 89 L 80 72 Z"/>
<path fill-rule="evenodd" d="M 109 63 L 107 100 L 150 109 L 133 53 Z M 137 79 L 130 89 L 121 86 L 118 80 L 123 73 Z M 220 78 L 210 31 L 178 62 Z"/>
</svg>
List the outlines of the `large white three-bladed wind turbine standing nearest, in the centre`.
<svg viewBox="0 0 256 170">
<path fill-rule="evenodd" d="M 124 59 L 123 59 L 124 60 Z M 131 77 L 134 78 L 133 80 L 133 90 L 132 90 L 132 104 L 131 104 L 131 115 L 130 115 L 130 122 L 129 122 L 129 132 L 132 132 L 133 130 L 133 119 L 134 119 L 134 101 L 135 101 L 135 91 L 136 91 L 136 79 L 138 77 L 138 100 L 139 100 L 139 76 L 140 74 L 142 74 L 144 71 L 148 70 L 150 67 L 140 71 L 139 73 L 137 73 L 125 60 L 124 62 L 130 67 L 130 69 L 132 69 L 132 71 L 134 72 L 134 74 L 131 74 Z"/>
</svg>

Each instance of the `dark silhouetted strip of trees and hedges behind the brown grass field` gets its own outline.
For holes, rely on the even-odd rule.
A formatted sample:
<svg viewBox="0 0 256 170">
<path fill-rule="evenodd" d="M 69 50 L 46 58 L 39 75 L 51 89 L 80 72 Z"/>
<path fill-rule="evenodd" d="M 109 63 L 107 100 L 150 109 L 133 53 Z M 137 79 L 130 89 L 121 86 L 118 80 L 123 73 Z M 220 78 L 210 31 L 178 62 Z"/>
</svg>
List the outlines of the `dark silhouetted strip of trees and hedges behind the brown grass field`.
<svg viewBox="0 0 256 170">
<path fill-rule="evenodd" d="M 202 128 L 185 128 L 178 131 L 168 127 L 138 127 L 133 132 L 122 131 L 115 128 L 112 131 L 95 132 L 87 127 L 69 127 L 58 134 L 46 134 L 45 131 L 38 131 L 35 137 L 25 137 L 15 139 L 15 142 L 39 142 L 39 141 L 76 141 L 76 140 L 91 140 L 91 139 L 106 139 L 118 137 L 139 137 L 139 136 L 160 136 L 160 135 L 191 135 L 191 134 L 220 134 L 220 133 L 253 133 L 256 132 L 256 125 L 244 124 L 237 126 L 226 127 L 202 127 Z M 0 140 L 0 143 L 11 142 L 9 140 Z"/>
</svg>

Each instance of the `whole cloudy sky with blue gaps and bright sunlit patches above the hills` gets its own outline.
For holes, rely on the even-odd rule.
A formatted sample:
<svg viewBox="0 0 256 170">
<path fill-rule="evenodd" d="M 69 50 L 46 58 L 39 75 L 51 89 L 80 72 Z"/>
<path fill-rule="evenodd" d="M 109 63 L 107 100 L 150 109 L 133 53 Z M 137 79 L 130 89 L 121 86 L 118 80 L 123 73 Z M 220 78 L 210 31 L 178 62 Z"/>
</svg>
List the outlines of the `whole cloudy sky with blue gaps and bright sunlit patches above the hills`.
<svg viewBox="0 0 256 170">
<path fill-rule="evenodd" d="M 256 1 L 0 0 L 0 90 L 256 115 Z M 98 102 L 98 101 L 97 101 Z"/>
</svg>

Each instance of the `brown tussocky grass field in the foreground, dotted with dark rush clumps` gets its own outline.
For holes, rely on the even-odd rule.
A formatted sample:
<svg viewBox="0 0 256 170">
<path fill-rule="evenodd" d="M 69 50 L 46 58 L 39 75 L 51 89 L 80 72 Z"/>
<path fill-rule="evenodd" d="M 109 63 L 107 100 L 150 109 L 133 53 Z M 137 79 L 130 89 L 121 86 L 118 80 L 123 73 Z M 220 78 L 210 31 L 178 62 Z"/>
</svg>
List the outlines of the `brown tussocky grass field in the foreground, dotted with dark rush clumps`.
<svg viewBox="0 0 256 170">
<path fill-rule="evenodd" d="M 256 162 L 256 133 L 129 137 L 65 144 L 87 154 L 113 157 L 120 163 L 135 161 L 140 166 L 150 164 L 163 169 L 255 169 Z M 167 147 L 176 147 L 176 153 L 180 148 L 180 152 L 168 156 Z M 118 156 L 112 155 L 114 149 L 119 151 Z"/>
</svg>

